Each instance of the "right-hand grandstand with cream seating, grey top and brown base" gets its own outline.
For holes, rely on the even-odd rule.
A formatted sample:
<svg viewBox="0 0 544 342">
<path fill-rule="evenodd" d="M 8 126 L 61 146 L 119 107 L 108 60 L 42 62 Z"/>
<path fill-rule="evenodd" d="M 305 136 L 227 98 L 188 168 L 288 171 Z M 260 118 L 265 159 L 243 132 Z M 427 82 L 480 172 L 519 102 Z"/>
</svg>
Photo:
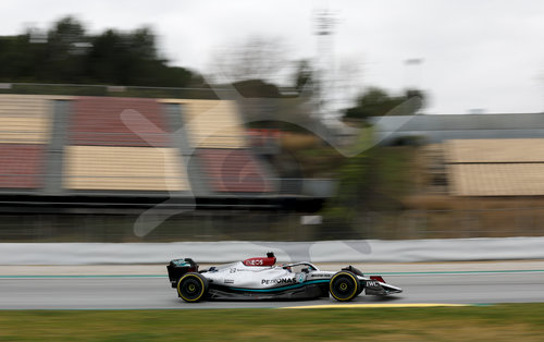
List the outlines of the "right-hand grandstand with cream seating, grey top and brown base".
<svg viewBox="0 0 544 342">
<path fill-rule="evenodd" d="M 544 114 L 386 117 L 372 122 L 383 146 L 417 154 L 412 191 L 397 216 L 404 234 L 543 234 Z"/>
</svg>

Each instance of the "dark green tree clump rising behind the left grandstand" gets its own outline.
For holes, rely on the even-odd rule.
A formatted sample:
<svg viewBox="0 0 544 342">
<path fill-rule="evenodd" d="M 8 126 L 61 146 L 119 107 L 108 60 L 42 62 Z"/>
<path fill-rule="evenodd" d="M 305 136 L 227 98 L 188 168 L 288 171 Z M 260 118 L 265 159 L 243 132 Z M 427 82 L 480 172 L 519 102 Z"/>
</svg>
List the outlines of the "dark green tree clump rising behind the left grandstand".
<svg viewBox="0 0 544 342">
<path fill-rule="evenodd" d="M 148 27 L 133 32 L 107 29 L 88 35 L 76 19 L 67 16 L 39 42 L 33 32 L 0 37 L 0 81 L 34 83 L 114 84 L 186 87 L 205 85 L 191 71 L 169 65 L 158 53 Z"/>
</svg>

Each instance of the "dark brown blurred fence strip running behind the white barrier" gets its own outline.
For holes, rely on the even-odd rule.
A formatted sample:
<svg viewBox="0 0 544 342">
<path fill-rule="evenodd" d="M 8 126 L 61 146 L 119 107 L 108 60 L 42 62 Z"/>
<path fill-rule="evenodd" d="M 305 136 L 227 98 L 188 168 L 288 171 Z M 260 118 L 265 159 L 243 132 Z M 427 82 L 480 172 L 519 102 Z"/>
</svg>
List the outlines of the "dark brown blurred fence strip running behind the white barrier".
<svg viewBox="0 0 544 342">
<path fill-rule="evenodd" d="M 178 210 L 180 211 L 180 210 Z M 177 212 L 178 212 L 177 211 Z M 302 224 L 304 216 L 274 208 L 163 211 L 146 236 L 134 233 L 143 209 L 71 209 L 1 213 L 0 242 L 321 241 L 543 236 L 544 208 L 375 211 L 355 219 Z M 175 213 L 171 217 L 170 215 Z M 312 222 L 312 220 L 306 220 Z"/>
</svg>

